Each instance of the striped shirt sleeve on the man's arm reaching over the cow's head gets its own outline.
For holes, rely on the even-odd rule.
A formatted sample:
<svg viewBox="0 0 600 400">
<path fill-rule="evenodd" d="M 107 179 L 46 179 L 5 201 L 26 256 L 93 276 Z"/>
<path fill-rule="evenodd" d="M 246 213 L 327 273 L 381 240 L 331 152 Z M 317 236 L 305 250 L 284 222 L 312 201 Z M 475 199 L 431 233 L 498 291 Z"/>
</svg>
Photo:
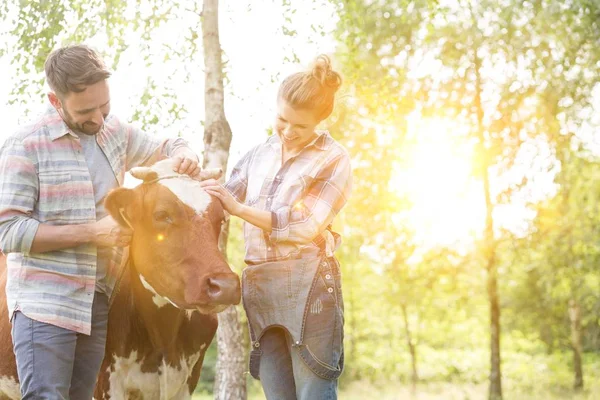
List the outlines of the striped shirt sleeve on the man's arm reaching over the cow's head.
<svg viewBox="0 0 600 400">
<path fill-rule="evenodd" d="M 130 124 L 125 124 L 123 129 L 127 136 L 127 170 L 142 165 L 152 165 L 163 158 L 171 157 L 180 147 L 191 150 L 182 138 L 161 140 Z"/>
</svg>

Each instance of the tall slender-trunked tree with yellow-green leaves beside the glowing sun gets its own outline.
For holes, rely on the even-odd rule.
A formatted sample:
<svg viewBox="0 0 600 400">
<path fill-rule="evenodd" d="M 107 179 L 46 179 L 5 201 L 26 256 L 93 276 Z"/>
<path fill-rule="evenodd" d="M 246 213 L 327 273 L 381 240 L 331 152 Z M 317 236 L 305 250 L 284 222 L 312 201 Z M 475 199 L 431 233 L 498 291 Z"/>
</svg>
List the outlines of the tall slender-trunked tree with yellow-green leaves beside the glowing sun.
<svg viewBox="0 0 600 400">
<path fill-rule="evenodd" d="M 482 188 L 486 217 L 481 237 L 475 238 L 474 259 L 487 272 L 489 398 L 500 399 L 499 244 L 507 236 L 495 216 L 536 183 L 522 166 L 533 164 L 527 149 L 554 149 L 555 139 L 569 124 L 581 125 L 578 113 L 590 104 L 598 73 L 593 45 L 599 30 L 597 5 L 511 0 L 459 1 L 435 8 L 426 1 L 337 3 L 338 56 L 357 99 L 344 124 L 355 146 L 350 152 L 360 166 L 355 175 L 361 183 L 352 201 L 369 210 L 372 221 L 354 234 L 364 235 L 364 243 L 381 254 L 388 253 L 377 238 L 386 228 L 381 199 L 389 201 L 381 188 L 393 166 L 387 146 L 378 144 L 395 141 L 401 148 L 408 113 L 449 118 L 466 128 L 448 134 L 475 149 L 473 175 Z M 416 68 L 420 65 L 424 68 Z M 386 141 L 386 127 L 391 126 L 395 138 Z M 356 151 L 359 146 L 362 152 Z M 401 152 L 396 154 L 402 158 Z M 358 219 L 365 215 L 358 208 L 353 214 Z"/>
</svg>

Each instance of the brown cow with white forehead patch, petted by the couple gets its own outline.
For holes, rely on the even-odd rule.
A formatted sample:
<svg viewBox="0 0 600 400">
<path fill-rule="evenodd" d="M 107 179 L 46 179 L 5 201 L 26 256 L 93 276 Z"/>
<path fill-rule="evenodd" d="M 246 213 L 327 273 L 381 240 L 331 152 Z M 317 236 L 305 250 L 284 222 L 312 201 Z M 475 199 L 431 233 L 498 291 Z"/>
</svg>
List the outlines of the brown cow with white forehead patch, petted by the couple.
<svg viewBox="0 0 600 400">
<path fill-rule="evenodd" d="M 105 207 L 133 228 L 111 299 L 104 360 L 94 398 L 190 399 L 216 314 L 240 301 L 239 277 L 218 246 L 224 212 L 172 161 L 138 167 L 135 188 L 109 193 Z M 0 269 L 0 399 L 20 399 Z"/>
</svg>

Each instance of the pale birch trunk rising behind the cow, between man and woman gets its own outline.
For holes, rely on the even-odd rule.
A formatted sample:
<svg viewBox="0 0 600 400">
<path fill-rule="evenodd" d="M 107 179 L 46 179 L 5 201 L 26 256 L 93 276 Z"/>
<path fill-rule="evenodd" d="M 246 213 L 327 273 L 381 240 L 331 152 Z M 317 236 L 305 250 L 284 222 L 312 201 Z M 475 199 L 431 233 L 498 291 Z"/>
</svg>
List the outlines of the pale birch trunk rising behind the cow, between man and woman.
<svg viewBox="0 0 600 400">
<path fill-rule="evenodd" d="M 218 0 L 204 0 L 202 41 L 205 66 L 204 161 L 202 166 L 203 168 L 222 168 L 223 171 L 226 171 L 231 144 L 231 128 L 225 118 Z M 221 251 L 225 256 L 227 256 L 228 228 L 228 225 L 225 224 L 219 238 Z M 245 357 L 242 343 L 242 327 L 237 309 L 229 307 L 219 314 L 215 399 L 246 399 Z"/>
</svg>

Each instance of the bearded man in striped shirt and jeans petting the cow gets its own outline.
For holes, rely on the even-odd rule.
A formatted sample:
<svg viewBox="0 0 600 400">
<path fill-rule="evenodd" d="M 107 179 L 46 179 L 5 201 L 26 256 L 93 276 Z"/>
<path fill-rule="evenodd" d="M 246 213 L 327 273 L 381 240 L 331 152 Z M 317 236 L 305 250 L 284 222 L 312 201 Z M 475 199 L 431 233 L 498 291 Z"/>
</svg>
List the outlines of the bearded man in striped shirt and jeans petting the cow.
<svg viewBox="0 0 600 400">
<path fill-rule="evenodd" d="M 109 115 L 110 72 L 84 45 L 45 64 L 51 107 L 0 150 L 0 246 L 23 399 L 92 397 L 108 304 L 132 232 L 103 207 L 125 172 L 163 157 L 200 172 L 181 139 L 161 141 Z"/>
</svg>

